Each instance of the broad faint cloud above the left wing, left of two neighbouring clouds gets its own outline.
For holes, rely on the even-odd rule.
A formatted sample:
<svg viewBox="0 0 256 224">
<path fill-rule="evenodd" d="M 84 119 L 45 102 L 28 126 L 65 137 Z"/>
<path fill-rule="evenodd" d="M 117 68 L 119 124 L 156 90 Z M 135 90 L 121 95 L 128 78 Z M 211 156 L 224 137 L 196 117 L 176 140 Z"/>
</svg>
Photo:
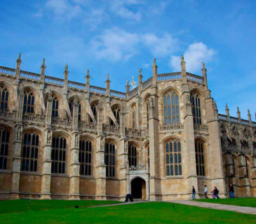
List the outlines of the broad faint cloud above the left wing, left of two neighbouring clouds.
<svg viewBox="0 0 256 224">
<path fill-rule="evenodd" d="M 90 43 L 92 52 L 97 58 L 110 61 L 129 60 L 136 54 L 139 37 L 119 28 L 106 29 Z"/>
</svg>

